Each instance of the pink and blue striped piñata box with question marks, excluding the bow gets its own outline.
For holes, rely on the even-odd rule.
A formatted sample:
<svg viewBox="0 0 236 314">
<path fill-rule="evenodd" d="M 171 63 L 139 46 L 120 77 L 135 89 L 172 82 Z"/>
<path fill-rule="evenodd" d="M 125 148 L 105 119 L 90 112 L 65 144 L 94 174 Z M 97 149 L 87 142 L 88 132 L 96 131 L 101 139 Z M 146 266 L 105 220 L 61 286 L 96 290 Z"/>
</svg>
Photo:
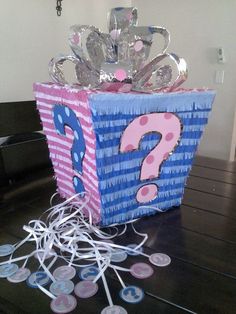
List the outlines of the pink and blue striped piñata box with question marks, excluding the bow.
<svg viewBox="0 0 236 314">
<path fill-rule="evenodd" d="M 58 191 L 86 192 L 101 225 L 179 206 L 212 90 L 103 92 L 36 83 Z"/>
</svg>

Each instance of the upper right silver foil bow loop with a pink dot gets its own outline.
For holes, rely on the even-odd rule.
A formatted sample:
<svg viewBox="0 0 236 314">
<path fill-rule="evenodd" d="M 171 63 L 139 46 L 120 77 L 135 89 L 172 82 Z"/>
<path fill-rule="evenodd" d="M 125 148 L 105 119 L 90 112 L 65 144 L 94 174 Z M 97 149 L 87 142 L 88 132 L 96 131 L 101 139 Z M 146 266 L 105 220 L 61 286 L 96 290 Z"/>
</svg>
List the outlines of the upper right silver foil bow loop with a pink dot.
<svg viewBox="0 0 236 314">
<path fill-rule="evenodd" d="M 118 60 L 131 61 L 133 74 L 143 68 L 150 55 L 153 34 L 164 38 L 164 45 L 159 53 L 165 53 L 170 43 L 170 33 L 159 26 L 130 26 L 120 35 L 118 41 Z"/>
</svg>

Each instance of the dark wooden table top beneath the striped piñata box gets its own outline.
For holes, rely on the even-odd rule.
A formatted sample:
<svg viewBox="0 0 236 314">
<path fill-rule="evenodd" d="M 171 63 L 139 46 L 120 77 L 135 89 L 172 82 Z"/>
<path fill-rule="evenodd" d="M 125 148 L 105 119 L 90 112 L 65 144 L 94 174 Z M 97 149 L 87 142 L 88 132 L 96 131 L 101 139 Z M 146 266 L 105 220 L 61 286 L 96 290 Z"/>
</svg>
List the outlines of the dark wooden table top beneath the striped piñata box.
<svg viewBox="0 0 236 314">
<path fill-rule="evenodd" d="M 49 207 L 55 184 L 47 182 L 30 193 L 22 193 L 14 201 L 9 200 L 1 209 L 0 244 L 24 238 L 23 224 Z M 120 283 L 108 272 L 114 304 L 137 314 L 236 313 L 235 205 L 236 163 L 196 158 L 181 208 L 136 223 L 137 230 L 149 235 L 145 252 L 166 253 L 172 263 L 168 267 L 155 267 L 154 275 L 145 280 L 121 273 L 126 283 L 138 285 L 145 291 L 144 300 L 136 305 L 119 298 Z M 120 241 L 128 244 L 137 239 L 128 230 Z M 27 246 L 22 248 L 22 254 Z M 137 261 L 147 260 L 140 256 L 129 257 L 122 265 L 129 266 Z M 31 263 L 36 265 L 36 261 Z M 50 299 L 38 289 L 31 289 L 26 283 L 0 280 L 0 313 L 52 313 L 49 305 Z M 97 295 L 78 299 L 73 313 L 100 313 L 107 305 L 102 283 L 99 283 Z"/>
</svg>

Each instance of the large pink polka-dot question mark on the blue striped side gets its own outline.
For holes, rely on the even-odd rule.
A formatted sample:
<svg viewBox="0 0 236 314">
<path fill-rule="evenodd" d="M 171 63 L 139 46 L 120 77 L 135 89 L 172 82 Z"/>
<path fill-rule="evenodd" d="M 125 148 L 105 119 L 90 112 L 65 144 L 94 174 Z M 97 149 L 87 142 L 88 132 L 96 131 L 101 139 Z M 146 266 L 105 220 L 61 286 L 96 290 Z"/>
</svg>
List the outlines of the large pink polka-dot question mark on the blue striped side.
<svg viewBox="0 0 236 314">
<path fill-rule="evenodd" d="M 154 132 L 159 133 L 161 139 L 142 161 L 141 181 L 159 177 L 161 164 L 178 145 L 181 122 L 175 114 L 169 112 L 145 114 L 135 118 L 121 137 L 120 152 L 126 153 L 139 149 L 144 135 Z M 157 194 L 158 186 L 148 183 L 138 189 L 136 199 L 139 203 L 147 203 L 154 200 Z"/>
</svg>

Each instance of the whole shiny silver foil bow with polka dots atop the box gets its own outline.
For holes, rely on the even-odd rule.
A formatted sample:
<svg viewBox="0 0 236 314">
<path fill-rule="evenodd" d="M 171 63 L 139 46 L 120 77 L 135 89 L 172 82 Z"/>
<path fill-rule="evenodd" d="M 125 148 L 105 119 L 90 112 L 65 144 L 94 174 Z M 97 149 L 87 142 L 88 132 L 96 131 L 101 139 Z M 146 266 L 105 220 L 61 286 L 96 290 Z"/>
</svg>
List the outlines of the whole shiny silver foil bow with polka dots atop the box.
<svg viewBox="0 0 236 314">
<path fill-rule="evenodd" d="M 148 62 L 153 37 L 163 37 L 163 47 Z M 114 8 L 110 13 L 109 34 L 90 25 L 70 27 L 69 44 L 74 55 L 58 56 L 49 64 L 53 81 L 68 84 L 62 66 L 65 61 L 75 64 L 81 86 L 116 89 L 129 84 L 126 90 L 148 92 L 173 90 L 187 79 L 187 64 L 174 53 L 167 53 L 170 34 L 159 26 L 137 26 L 136 8 Z M 163 64 L 168 61 L 168 64 Z M 177 70 L 175 79 L 172 72 Z"/>
</svg>

